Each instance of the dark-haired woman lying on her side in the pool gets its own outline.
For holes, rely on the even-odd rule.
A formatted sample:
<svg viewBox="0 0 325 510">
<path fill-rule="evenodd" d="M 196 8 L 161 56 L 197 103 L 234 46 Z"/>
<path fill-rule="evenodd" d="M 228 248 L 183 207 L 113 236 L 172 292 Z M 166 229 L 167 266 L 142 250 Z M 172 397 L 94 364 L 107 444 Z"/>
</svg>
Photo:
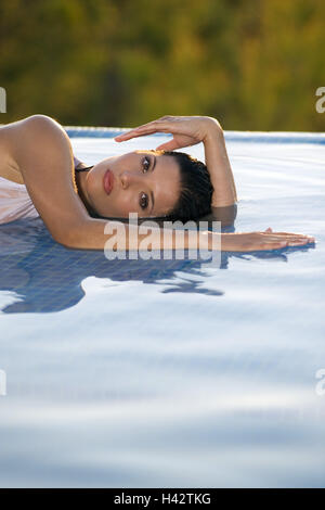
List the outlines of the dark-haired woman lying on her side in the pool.
<svg viewBox="0 0 325 510">
<path fill-rule="evenodd" d="M 170 132 L 173 138 L 156 151 L 108 157 L 92 167 L 75 158 L 75 168 L 70 141 L 54 119 L 32 115 L 9 124 L 0 128 L 0 189 L 8 182 L 24 184 L 35 207 L 30 215 L 39 214 L 53 239 L 73 248 L 103 250 L 116 227 L 115 248 L 122 245 L 127 251 L 141 250 L 147 233 L 127 224 L 128 235 L 122 237 L 117 222 L 104 218 L 128 218 L 129 213 L 138 213 L 140 218 L 187 220 L 212 208 L 222 219 L 222 215 L 235 211 L 235 183 L 222 128 L 214 118 L 165 116 L 115 140 L 121 142 L 154 132 Z M 170 153 L 199 142 L 205 146 L 206 166 L 191 156 Z M 8 221 L 3 206 L 1 215 L 0 197 L 0 222 L 1 217 L 2 222 Z M 196 241 L 185 231 L 185 248 L 212 248 L 216 235 L 221 235 L 222 250 L 239 252 L 314 241 L 308 235 L 272 232 L 270 228 L 252 233 L 200 231 Z M 164 229 L 152 229 L 151 246 L 176 248 L 176 230 L 165 237 Z"/>
</svg>

